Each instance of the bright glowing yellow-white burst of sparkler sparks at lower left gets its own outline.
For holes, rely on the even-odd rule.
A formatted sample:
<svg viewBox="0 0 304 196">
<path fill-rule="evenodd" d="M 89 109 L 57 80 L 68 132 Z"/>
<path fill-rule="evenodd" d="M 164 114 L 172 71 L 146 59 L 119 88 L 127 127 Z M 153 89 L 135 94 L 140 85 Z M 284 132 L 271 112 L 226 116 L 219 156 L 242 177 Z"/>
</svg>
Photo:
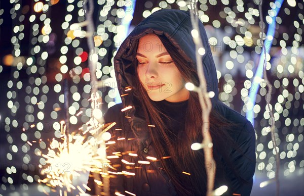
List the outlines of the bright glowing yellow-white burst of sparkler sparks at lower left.
<svg viewBox="0 0 304 196">
<path fill-rule="evenodd" d="M 53 139 L 51 148 L 48 148 L 48 154 L 42 155 L 46 159 L 42 174 L 47 174 L 47 177 L 41 182 L 51 187 L 66 187 L 67 191 L 75 189 L 71 184 L 72 179 L 79 177 L 80 172 L 93 171 L 99 173 L 100 169 L 103 168 L 103 163 L 107 162 L 106 159 L 102 158 L 103 156 L 95 155 L 94 144 L 97 140 L 94 137 L 90 137 L 87 141 L 84 141 L 86 138 L 80 134 L 70 135 L 70 137 L 72 142 L 68 144 L 69 152 L 67 151 L 66 140 L 58 142 Z M 81 189 L 81 187 L 77 188 Z M 84 186 L 84 188 L 88 189 L 87 186 Z"/>
</svg>

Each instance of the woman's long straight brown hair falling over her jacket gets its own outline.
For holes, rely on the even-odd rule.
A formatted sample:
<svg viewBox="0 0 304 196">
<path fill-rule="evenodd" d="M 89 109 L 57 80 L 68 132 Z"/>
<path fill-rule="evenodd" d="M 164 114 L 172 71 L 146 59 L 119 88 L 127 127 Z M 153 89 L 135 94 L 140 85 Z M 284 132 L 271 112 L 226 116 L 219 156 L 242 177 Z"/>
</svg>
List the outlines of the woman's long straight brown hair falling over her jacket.
<svg viewBox="0 0 304 196">
<path fill-rule="evenodd" d="M 199 79 L 195 66 L 190 59 L 182 57 L 177 51 L 177 48 L 168 40 L 165 35 L 158 35 L 164 44 L 166 50 L 170 54 L 173 62 L 184 77 L 186 82 L 192 82 L 199 86 Z M 137 49 L 137 47 L 135 47 Z M 191 144 L 194 142 L 201 142 L 202 137 L 202 109 L 198 107 L 199 97 L 198 93 L 190 91 L 188 106 L 185 111 L 185 125 L 182 131 L 182 137 L 172 138 L 170 130 L 164 123 L 169 119 L 164 113 L 160 111 L 155 102 L 151 101 L 147 95 L 146 90 L 140 84 L 137 75 L 137 60 L 134 58 L 135 64 L 135 78 L 134 99 L 137 99 L 148 124 L 153 124 L 155 127 L 149 128 L 152 141 L 154 142 L 155 151 L 161 164 L 173 184 L 175 185 L 178 195 L 203 195 L 206 194 L 206 169 L 204 162 L 203 150 L 193 151 Z M 241 151 L 235 144 L 235 141 L 229 135 L 229 131 L 235 130 L 237 124 L 227 121 L 220 113 L 212 109 L 210 113 L 210 134 L 213 141 L 213 155 L 216 157 L 220 154 L 223 160 L 230 166 L 236 177 L 245 183 L 240 174 L 232 166 L 232 160 L 229 158 L 229 152 L 226 152 L 225 145 L 234 146 L 235 149 Z M 238 127 L 240 129 L 240 127 Z M 180 139 L 182 138 L 182 139 Z M 168 155 L 169 153 L 169 155 Z M 242 152 L 241 152 L 242 153 Z M 243 154 L 243 153 L 242 153 Z M 243 154 L 244 155 L 244 154 Z M 161 159 L 161 157 L 171 156 L 171 159 Z M 215 159 L 216 164 L 219 163 Z M 191 175 L 182 173 L 185 171 Z"/>
</svg>

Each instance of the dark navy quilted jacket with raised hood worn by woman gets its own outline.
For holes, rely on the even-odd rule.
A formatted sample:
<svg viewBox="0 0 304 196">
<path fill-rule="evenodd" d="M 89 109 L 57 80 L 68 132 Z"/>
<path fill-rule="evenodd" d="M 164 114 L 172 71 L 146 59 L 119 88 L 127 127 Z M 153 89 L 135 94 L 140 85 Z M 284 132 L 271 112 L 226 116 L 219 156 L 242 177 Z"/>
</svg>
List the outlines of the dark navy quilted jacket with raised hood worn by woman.
<svg viewBox="0 0 304 196">
<path fill-rule="evenodd" d="M 203 41 L 206 53 L 202 57 L 204 74 L 207 81 L 207 90 L 215 93 L 211 99 L 213 110 L 231 122 L 240 125 L 239 131 L 231 133 L 244 154 L 244 157 L 232 146 L 225 146 L 230 152 L 235 168 L 238 168 L 242 177 L 248 180 L 249 184 L 240 183 L 234 173 L 222 163 L 222 170 L 216 172 L 215 186 L 227 185 L 228 190 L 223 195 L 250 195 L 255 171 L 255 132 L 251 123 L 238 112 L 225 106 L 218 101 L 218 80 L 216 68 L 212 58 L 207 34 L 203 24 L 199 23 L 200 36 Z M 148 33 L 165 35 L 177 48 L 178 53 L 186 59 L 193 61 L 196 65 L 195 43 L 191 30 L 191 17 L 188 11 L 180 10 L 159 10 L 141 21 L 129 34 L 120 46 L 115 58 L 114 67 L 118 90 L 123 95 L 122 103 L 108 109 L 104 115 L 105 123 L 116 122 L 109 132 L 112 135 L 107 156 L 118 155 L 119 158 L 110 159 L 110 194 L 120 192 L 129 195 L 129 192 L 136 195 L 176 195 L 176 190 L 170 178 L 160 165 L 160 162 L 147 160 L 147 157 L 156 157 L 151 143 L 146 122 L 141 114 L 140 107 L 132 94 L 132 86 L 135 82 L 134 52 L 137 50 L 138 39 Z M 132 106 L 131 109 L 123 110 Z M 122 112 L 123 110 L 123 112 Z M 135 156 L 135 154 L 137 156 Z M 143 162 L 138 162 L 143 161 Z M 144 162 L 145 161 L 145 162 Z M 148 162 L 149 163 L 148 163 Z M 135 165 L 134 165 L 134 164 Z M 148 164 L 147 164 L 148 163 Z M 133 164 L 133 165 L 132 165 Z M 91 194 L 96 192 L 98 187 L 94 183 L 93 175 L 90 174 L 88 186 Z M 205 193 L 201 193 L 204 195 Z"/>
</svg>

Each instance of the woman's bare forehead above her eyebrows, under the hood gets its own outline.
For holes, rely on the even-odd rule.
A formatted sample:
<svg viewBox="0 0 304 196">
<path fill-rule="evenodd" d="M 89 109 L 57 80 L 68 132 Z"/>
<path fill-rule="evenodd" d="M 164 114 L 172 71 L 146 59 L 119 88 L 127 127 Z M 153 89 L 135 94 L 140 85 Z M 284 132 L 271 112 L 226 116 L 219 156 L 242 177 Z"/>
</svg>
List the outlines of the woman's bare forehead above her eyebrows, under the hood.
<svg viewBox="0 0 304 196">
<path fill-rule="evenodd" d="M 148 53 L 148 52 L 165 52 L 166 48 L 160 40 L 160 38 L 155 34 L 147 34 L 141 37 L 138 41 L 137 52 Z"/>
</svg>

